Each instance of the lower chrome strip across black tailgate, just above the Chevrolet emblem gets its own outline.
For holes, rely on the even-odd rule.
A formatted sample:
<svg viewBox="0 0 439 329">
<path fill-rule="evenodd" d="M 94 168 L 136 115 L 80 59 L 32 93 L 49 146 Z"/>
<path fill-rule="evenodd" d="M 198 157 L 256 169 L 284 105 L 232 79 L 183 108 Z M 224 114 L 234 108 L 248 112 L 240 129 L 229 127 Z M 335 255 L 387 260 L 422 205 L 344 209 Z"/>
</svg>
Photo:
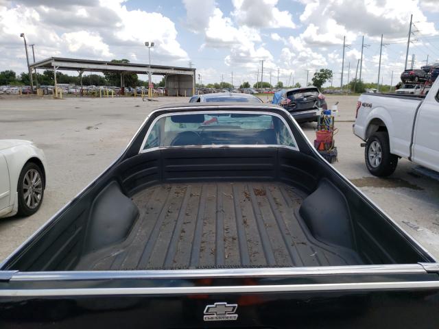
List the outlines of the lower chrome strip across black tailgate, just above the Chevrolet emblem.
<svg viewBox="0 0 439 329">
<path fill-rule="evenodd" d="M 281 293 L 302 291 L 373 291 L 389 289 L 439 289 L 438 281 L 362 282 L 329 284 L 273 284 L 261 286 L 216 287 L 145 287 L 91 289 L 10 289 L 0 290 L 0 297 L 54 297 L 95 295 L 187 295 L 215 293 Z"/>
</svg>

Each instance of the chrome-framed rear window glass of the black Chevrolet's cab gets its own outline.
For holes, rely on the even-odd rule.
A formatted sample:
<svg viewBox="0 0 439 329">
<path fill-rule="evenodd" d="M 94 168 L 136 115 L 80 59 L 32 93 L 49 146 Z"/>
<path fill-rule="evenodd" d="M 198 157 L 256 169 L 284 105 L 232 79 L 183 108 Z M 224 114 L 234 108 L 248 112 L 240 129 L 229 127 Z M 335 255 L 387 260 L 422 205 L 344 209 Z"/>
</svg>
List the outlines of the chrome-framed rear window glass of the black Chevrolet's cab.
<svg viewBox="0 0 439 329">
<path fill-rule="evenodd" d="M 285 121 L 273 114 L 198 112 L 156 119 L 143 149 L 189 145 L 282 145 L 296 148 Z"/>
</svg>

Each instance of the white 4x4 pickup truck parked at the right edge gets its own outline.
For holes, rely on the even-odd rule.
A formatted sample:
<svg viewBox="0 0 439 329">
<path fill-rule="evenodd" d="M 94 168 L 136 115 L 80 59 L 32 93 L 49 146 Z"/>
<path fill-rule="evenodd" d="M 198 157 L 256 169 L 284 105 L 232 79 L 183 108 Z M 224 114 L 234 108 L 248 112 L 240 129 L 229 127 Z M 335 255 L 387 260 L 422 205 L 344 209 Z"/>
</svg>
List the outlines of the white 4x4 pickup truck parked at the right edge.
<svg viewBox="0 0 439 329">
<path fill-rule="evenodd" d="M 363 94 L 355 118 L 372 175 L 391 175 L 399 158 L 439 171 L 439 79 L 426 96 Z"/>
</svg>

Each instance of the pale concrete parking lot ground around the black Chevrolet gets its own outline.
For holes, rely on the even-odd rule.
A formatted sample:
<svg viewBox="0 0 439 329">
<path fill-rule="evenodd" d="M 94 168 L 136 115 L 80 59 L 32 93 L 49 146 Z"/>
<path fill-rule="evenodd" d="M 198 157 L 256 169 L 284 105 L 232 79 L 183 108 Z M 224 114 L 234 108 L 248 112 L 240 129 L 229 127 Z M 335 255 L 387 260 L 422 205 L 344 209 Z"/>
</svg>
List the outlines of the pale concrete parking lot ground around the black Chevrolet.
<svg viewBox="0 0 439 329">
<path fill-rule="evenodd" d="M 130 141 L 146 115 L 163 103 L 187 102 L 189 97 L 67 98 L 3 96 L 0 138 L 34 141 L 47 156 L 47 188 L 40 210 L 32 217 L 0 220 L 0 258 L 8 256 L 51 215 L 101 173 Z M 340 101 L 334 166 L 390 215 L 429 252 L 439 257 L 439 181 L 434 174 L 400 160 L 394 175 L 375 178 L 364 164 L 364 149 L 353 135 L 356 96 L 329 96 Z M 302 125 L 310 140 L 314 123 Z"/>
</svg>

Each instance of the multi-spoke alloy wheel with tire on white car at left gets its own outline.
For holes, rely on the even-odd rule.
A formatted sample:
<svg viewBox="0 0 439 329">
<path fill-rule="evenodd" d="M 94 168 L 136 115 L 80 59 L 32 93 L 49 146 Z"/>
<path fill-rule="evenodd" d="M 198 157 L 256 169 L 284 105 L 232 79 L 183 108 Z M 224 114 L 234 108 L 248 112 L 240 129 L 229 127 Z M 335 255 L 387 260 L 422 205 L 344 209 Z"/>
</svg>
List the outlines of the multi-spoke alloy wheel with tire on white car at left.
<svg viewBox="0 0 439 329">
<path fill-rule="evenodd" d="M 19 215 L 30 216 L 37 212 L 43 202 L 44 176 L 33 162 L 27 162 L 19 176 Z"/>
</svg>

